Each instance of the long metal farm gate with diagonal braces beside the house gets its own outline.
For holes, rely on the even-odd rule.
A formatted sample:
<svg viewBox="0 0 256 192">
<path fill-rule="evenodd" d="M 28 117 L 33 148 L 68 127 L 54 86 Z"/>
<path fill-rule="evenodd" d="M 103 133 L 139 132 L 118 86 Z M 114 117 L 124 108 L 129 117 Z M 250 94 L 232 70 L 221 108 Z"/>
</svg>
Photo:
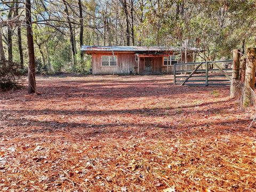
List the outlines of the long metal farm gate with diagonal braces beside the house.
<svg viewBox="0 0 256 192">
<path fill-rule="evenodd" d="M 230 85 L 232 61 L 175 63 L 174 85 Z"/>
</svg>

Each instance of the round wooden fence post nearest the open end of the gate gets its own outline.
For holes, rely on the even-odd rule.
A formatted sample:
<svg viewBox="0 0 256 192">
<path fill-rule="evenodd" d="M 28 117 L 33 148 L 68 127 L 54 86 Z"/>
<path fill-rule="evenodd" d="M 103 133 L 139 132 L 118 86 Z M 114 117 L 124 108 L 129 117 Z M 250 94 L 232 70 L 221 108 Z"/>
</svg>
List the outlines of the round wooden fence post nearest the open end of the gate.
<svg viewBox="0 0 256 192">
<path fill-rule="evenodd" d="M 230 98 L 234 98 L 237 92 L 236 84 L 239 79 L 240 55 L 240 50 L 233 50 L 233 70 L 230 85 Z"/>
</svg>

